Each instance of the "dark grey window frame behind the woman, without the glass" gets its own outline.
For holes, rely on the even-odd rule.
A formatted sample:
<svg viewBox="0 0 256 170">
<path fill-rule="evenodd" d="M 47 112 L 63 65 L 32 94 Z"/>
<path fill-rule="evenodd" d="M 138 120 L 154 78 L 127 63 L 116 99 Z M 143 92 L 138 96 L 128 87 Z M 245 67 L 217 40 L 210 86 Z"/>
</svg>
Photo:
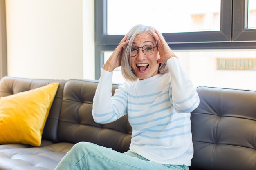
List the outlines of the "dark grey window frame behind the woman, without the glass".
<svg viewBox="0 0 256 170">
<path fill-rule="evenodd" d="M 245 28 L 246 3 L 221 0 L 220 31 L 163 33 L 165 40 L 173 50 L 256 49 L 256 30 Z M 123 37 L 107 34 L 107 0 L 95 0 L 95 79 L 100 77 L 104 52 L 113 51 Z"/>
</svg>

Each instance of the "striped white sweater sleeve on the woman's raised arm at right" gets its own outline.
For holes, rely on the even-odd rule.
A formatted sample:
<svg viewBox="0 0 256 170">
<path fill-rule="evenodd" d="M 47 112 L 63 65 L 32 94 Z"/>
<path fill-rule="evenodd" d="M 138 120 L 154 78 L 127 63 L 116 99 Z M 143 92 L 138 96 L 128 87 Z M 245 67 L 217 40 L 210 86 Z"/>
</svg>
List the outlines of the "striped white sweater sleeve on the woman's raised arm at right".
<svg viewBox="0 0 256 170">
<path fill-rule="evenodd" d="M 172 104 L 179 113 L 189 113 L 199 105 L 199 97 L 187 73 L 180 65 L 179 59 L 167 60 L 171 73 Z"/>
</svg>

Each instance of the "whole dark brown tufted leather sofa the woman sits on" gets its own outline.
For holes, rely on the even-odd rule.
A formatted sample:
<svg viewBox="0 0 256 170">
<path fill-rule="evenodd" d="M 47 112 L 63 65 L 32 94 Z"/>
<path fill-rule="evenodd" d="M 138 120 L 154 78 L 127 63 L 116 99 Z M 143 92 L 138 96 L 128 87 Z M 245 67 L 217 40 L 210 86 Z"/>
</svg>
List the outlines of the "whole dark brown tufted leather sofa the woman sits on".
<svg viewBox="0 0 256 170">
<path fill-rule="evenodd" d="M 97 81 L 4 77 L 0 97 L 51 82 L 59 87 L 45 123 L 40 147 L 0 145 L 0 170 L 54 170 L 80 141 L 118 152 L 129 149 L 132 128 L 127 116 L 110 124 L 92 118 Z M 112 94 L 118 84 L 112 85 Z M 191 113 L 194 157 L 190 170 L 256 169 L 256 91 L 198 87 L 200 105 Z M 171 154 L 171 153 L 170 153 Z"/>
</svg>

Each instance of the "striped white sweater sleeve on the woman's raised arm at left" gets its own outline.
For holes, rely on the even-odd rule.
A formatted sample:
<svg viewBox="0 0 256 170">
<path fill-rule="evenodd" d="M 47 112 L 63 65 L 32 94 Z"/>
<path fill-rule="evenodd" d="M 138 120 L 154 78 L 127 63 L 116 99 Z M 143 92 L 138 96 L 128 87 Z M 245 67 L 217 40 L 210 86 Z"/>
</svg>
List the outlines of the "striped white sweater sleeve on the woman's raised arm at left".
<svg viewBox="0 0 256 170">
<path fill-rule="evenodd" d="M 112 72 L 101 71 L 92 105 L 92 116 L 97 123 L 113 122 L 127 112 L 126 86 L 125 84 L 119 86 L 115 91 L 115 95 L 112 96 L 112 75 Z"/>
</svg>

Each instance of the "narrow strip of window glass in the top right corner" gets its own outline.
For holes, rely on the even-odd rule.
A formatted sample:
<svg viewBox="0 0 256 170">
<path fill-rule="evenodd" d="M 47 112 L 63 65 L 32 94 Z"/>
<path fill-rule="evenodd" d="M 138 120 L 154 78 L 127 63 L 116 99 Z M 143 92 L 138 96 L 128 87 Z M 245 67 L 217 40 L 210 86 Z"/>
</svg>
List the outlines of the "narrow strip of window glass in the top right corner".
<svg viewBox="0 0 256 170">
<path fill-rule="evenodd" d="M 248 0 L 248 21 L 249 29 L 256 29 L 256 0 Z"/>
</svg>

